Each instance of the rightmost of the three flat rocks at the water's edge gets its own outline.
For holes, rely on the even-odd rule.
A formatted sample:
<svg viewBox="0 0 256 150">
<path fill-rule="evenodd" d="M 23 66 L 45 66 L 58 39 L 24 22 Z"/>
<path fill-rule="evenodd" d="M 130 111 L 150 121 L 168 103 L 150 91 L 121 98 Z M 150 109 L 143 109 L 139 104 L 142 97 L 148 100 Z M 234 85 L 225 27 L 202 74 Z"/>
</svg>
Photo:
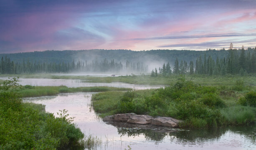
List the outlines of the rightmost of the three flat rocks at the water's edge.
<svg viewBox="0 0 256 150">
<path fill-rule="evenodd" d="M 182 120 L 177 120 L 172 117 L 157 117 L 152 120 L 152 125 L 160 125 L 166 127 L 178 127 Z"/>
</svg>

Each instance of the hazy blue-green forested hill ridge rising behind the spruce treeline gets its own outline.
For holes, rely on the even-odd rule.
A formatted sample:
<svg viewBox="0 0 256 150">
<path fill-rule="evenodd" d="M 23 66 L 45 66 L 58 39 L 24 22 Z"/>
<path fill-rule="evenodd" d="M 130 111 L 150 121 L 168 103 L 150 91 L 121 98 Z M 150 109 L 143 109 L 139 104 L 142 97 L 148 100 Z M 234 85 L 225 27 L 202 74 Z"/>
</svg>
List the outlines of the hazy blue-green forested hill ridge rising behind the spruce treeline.
<svg viewBox="0 0 256 150">
<path fill-rule="evenodd" d="M 228 51 L 221 49 L 209 49 L 205 51 L 196 50 L 148 50 L 148 51 L 132 51 L 132 50 L 47 50 L 43 52 L 21 52 L 13 54 L 0 54 L 1 57 L 10 57 L 14 62 L 22 63 L 23 60 L 32 62 L 56 62 L 56 63 L 71 63 L 73 60 L 92 61 L 92 60 L 107 60 L 114 59 L 116 62 L 144 62 L 147 65 L 153 66 L 154 63 L 174 62 L 176 57 L 178 60 L 195 61 L 198 56 L 208 57 L 209 55 L 215 60 L 217 57 L 223 58 L 228 56 Z M 172 64 L 170 64 L 172 66 Z"/>
</svg>

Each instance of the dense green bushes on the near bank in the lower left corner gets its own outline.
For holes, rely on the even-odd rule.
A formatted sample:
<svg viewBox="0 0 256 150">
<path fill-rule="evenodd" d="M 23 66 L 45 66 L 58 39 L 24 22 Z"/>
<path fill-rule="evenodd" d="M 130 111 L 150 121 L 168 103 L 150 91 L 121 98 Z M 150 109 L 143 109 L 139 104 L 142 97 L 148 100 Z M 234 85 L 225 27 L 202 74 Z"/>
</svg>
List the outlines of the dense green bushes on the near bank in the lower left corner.
<svg viewBox="0 0 256 150">
<path fill-rule="evenodd" d="M 84 133 L 72 123 L 66 110 L 58 117 L 45 112 L 41 104 L 23 103 L 16 80 L 0 86 L 1 150 L 84 149 Z"/>
</svg>

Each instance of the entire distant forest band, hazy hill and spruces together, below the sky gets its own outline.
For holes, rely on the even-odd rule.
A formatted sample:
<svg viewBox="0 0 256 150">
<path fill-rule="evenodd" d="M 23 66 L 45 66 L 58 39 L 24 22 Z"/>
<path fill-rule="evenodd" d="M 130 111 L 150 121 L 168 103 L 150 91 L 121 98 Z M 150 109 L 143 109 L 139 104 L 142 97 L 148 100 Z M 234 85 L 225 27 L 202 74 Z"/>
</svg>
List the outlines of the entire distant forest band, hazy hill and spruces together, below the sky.
<svg viewBox="0 0 256 150">
<path fill-rule="evenodd" d="M 225 75 L 255 73 L 256 48 L 245 50 L 65 50 L 0 54 L 1 74 L 58 72 L 149 72 Z M 167 62 L 166 65 L 164 62 Z M 164 65 L 161 65 L 163 64 Z M 161 67 L 159 67 L 161 65 Z"/>
</svg>

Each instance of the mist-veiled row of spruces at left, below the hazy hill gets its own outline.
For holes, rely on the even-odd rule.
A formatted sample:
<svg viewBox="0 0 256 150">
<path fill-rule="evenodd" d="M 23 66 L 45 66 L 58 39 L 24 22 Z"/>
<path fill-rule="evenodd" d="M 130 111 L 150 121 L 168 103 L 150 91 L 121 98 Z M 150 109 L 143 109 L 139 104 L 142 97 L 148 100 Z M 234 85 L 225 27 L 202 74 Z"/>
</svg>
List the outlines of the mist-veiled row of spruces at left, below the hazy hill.
<svg viewBox="0 0 256 150">
<path fill-rule="evenodd" d="M 13 62 L 9 57 L 2 57 L 0 62 L 0 74 L 23 74 L 23 73 L 68 73 L 68 72 L 119 72 L 119 71 L 147 72 L 147 66 L 143 63 L 132 63 L 127 60 L 126 64 L 112 60 L 92 60 L 82 62 L 74 60 L 65 62 L 40 62 L 23 60 L 23 62 Z"/>
</svg>

